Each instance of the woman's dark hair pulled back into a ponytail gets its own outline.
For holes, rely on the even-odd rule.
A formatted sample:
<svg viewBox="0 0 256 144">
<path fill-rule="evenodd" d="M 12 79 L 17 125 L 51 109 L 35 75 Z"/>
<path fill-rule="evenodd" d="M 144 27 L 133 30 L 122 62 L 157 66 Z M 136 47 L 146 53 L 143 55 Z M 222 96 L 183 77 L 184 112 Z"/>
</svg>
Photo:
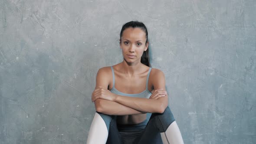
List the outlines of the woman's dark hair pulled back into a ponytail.
<svg viewBox="0 0 256 144">
<path fill-rule="evenodd" d="M 132 28 L 138 27 L 138 28 L 142 29 L 146 33 L 146 38 L 147 38 L 146 44 L 148 43 L 148 30 L 147 30 L 147 27 L 144 25 L 144 23 L 141 23 L 141 22 L 138 22 L 138 21 L 130 21 L 128 23 L 125 23 L 122 26 L 121 33 L 120 33 L 120 43 L 121 43 L 121 36 L 123 35 L 124 30 L 127 29 L 127 28 L 130 28 L 130 27 L 132 27 Z M 148 49 L 143 52 L 143 54 L 141 56 L 141 63 L 151 67 L 150 62 L 149 62 Z"/>
</svg>

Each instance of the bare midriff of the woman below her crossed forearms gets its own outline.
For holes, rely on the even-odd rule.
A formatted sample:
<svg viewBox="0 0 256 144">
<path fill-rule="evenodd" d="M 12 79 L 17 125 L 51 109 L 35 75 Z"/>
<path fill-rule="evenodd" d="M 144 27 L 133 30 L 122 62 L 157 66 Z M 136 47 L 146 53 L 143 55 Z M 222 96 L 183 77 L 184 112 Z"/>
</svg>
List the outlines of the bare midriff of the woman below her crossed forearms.
<svg viewBox="0 0 256 144">
<path fill-rule="evenodd" d="M 138 124 L 145 121 L 147 114 L 137 115 L 118 115 L 116 122 L 117 124 Z"/>
</svg>

